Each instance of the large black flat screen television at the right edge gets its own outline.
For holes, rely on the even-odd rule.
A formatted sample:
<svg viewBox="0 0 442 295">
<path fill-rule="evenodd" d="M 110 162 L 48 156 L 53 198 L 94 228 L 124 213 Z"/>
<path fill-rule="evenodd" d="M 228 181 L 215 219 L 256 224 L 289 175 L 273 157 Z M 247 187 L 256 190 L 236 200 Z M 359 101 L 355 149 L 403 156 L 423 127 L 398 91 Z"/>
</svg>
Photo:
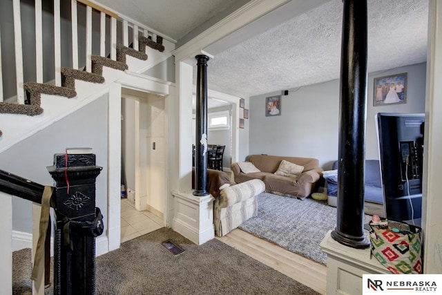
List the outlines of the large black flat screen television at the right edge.
<svg viewBox="0 0 442 295">
<path fill-rule="evenodd" d="M 378 113 L 376 124 L 385 217 L 420 226 L 425 115 Z"/>
</svg>

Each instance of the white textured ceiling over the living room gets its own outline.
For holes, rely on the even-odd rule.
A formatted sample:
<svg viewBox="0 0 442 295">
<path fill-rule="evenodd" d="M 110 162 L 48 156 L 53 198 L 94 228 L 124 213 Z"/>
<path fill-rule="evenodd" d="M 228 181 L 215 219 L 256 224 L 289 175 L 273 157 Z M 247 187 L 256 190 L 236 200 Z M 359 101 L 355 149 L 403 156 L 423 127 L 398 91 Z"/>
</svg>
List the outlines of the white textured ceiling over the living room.
<svg viewBox="0 0 442 295">
<path fill-rule="evenodd" d="M 426 61 L 427 1 L 368 1 L 369 72 Z M 338 79 L 343 2 L 332 0 L 209 61 L 210 88 L 249 97 Z"/>
</svg>

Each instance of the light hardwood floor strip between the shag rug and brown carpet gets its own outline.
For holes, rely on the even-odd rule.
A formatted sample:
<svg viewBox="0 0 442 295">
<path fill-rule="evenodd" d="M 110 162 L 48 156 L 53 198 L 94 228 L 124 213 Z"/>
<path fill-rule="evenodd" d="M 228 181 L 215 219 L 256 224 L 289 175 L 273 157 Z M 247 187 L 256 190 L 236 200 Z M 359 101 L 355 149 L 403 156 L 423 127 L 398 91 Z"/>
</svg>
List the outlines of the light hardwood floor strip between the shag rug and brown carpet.
<svg viewBox="0 0 442 295">
<path fill-rule="evenodd" d="M 316 292 L 325 294 L 327 287 L 327 267 L 325 265 L 287 251 L 241 229 L 234 229 L 227 236 L 218 238 L 218 240 L 299 283 L 311 287 Z"/>
</svg>

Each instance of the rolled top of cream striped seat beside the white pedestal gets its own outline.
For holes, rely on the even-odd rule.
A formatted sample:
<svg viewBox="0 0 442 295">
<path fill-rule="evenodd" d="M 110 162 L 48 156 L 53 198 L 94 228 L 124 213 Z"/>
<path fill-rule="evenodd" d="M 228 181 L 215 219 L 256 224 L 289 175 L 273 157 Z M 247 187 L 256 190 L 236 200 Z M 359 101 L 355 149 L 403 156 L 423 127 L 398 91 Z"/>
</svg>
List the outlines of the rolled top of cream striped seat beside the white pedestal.
<svg viewBox="0 0 442 295">
<path fill-rule="evenodd" d="M 258 196 L 265 190 L 265 184 L 262 180 L 254 179 L 247 182 L 227 187 L 220 192 L 218 200 L 221 208 L 229 207 L 233 204 Z"/>
</svg>

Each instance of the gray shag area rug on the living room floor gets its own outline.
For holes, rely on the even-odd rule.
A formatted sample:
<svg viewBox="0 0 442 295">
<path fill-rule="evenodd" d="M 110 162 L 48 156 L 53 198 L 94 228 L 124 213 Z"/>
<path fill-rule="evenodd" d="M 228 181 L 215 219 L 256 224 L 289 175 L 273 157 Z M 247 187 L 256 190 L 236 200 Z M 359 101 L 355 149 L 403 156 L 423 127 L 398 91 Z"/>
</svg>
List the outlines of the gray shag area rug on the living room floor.
<svg viewBox="0 0 442 295">
<path fill-rule="evenodd" d="M 366 222 L 370 218 L 365 216 Z M 327 254 L 319 244 L 329 230 L 336 228 L 336 208 L 328 206 L 327 201 L 261 193 L 258 216 L 239 228 L 325 265 Z"/>
</svg>

